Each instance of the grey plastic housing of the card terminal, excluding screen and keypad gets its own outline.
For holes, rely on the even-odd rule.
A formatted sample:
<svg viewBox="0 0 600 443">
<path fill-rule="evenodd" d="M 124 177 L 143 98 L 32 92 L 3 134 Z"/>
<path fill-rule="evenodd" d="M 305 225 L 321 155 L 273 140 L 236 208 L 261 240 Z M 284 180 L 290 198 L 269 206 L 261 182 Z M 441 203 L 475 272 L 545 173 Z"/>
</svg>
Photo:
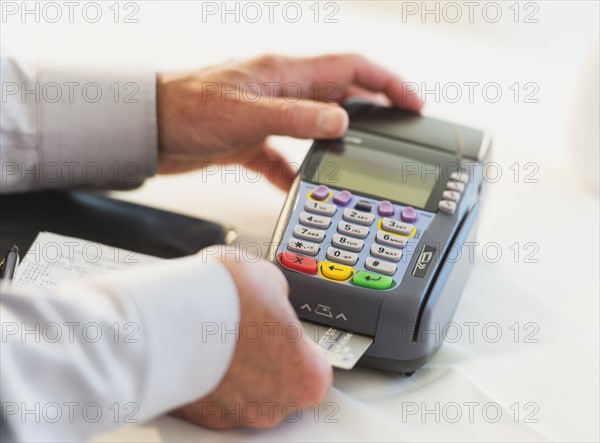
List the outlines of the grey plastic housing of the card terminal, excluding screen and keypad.
<svg viewBox="0 0 600 443">
<path fill-rule="evenodd" d="M 468 253 L 471 243 L 467 243 L 467 248 L 465 243 L 474 242 L 485 183 L 483 168 L 491 152 L 491 139 L 476 129 L 396 108 L 355 103 L 347 106 L 347 110 L 350 115 L 347 133 L 338 140 L 315 141 L 303 162 L 275 228 L 269 260 L 287 278 L 290 301 L 300 318 L 373 337 L 373 344 L 359 364 L 410 374 L 425 364 L 444 341 L 446 326 L 452 321 L 465 287 L 472 265 L 472 255 Z M 366 140 L 372 147 L 377 143 L 395 143 L 398 150 L 417 147 L 423 155 L 435 159 L 442 171 L 446 166 L 446 170 L 459 168 L 469 176 L 455 212 L 448 214 L 437 209 L 447 181 L 440 174 L 427 204 L 419 208 L 435 215 L 420 233 L 417 253 L 410 258 L 408 272 L 389 291 L 310 277 L 286 269 L 276 259 L 285 247 L 282 240 L 299 200 L 300 184 L 309 179 L 311 158 L 316 151 L 335 149 L 348 139 Z M 413 275 L 410 271 L 416 269 L 421 257 L 418 251 L 432 254 L 428 254 L 430 260 L 425 271 Z M 344 319 L 324 318 L 302 310 L 305 304 L 330 306 L 346 315 Z"/>
</svg>

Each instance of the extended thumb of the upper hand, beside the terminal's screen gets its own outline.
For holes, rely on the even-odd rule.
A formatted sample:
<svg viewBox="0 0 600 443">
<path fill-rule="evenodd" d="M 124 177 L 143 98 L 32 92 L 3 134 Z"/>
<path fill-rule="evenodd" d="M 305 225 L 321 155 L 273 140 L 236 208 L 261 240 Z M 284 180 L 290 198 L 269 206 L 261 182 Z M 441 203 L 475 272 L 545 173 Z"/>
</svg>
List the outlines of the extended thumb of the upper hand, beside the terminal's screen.
<svg viewBox="0 0 600 443">
<path fill-rule="evenodd" d="M 286 98 L 264 99 L 255 117 L 268 135 L 297 138 L 337 138 L 348 129 L 348 113 L 334 103 Z"/>
</svg>

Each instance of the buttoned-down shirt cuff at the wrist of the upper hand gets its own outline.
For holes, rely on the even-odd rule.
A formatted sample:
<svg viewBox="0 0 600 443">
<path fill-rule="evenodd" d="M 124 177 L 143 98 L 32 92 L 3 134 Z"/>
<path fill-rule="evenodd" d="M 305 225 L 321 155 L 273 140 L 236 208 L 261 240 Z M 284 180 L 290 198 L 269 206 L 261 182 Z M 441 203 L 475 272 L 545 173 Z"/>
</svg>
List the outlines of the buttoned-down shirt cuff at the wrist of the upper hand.
<svg viewBox="0 0 600 443">
<path fill-rule="evenodd" d="M 127 189 L 156 173 L 156 73 L 41 65 L 34 88 L 46 185 Z"/>
</svg>

